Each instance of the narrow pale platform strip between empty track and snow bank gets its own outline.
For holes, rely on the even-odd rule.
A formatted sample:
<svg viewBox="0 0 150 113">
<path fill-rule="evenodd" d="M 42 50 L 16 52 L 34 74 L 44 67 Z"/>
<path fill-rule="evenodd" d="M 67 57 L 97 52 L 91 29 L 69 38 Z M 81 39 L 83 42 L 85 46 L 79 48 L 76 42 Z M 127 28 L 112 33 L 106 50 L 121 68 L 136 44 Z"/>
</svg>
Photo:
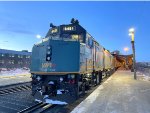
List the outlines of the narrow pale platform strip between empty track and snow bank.
<svg viewBox="0 0 150 113">
<path fill-rule="evenodd" d="M 31 74 L 21 74 L 15 76 L 0 76 L 0 87 L 11 85 L 11 84 L 29 82 L 31 81 L 30 77 Z"/>
</svg>

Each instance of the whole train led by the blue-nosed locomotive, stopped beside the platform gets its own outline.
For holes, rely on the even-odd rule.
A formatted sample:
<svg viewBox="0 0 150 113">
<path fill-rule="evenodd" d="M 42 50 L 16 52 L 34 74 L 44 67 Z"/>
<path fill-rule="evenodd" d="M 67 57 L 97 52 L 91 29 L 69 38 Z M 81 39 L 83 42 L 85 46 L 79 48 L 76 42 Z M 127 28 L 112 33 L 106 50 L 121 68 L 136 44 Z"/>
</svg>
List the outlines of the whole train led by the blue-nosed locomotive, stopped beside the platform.
<svg viewBox="0 0 150 113">
<path fill-rule="evenodd" d="M 114 57 L 81 25 L 54 26 L 31 57 L 32 95 L 37 101 L 68 104 L 115 69 Z"/>
</svg>

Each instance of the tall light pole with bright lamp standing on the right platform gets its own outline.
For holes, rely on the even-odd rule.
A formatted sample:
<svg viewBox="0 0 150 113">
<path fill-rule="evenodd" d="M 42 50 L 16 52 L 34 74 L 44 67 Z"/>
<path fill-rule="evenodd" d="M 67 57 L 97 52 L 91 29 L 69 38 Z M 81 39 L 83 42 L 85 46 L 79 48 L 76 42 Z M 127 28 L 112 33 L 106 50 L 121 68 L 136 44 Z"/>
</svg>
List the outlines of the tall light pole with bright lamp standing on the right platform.
<svg viewBox="0 0 150 113">
<path fill-rule="evenodd" d="M 134 46 L 134 28 L 129 29 L 129 35 L 131 36 L 131 44 L 133 51 L 133 70 L 134 70 L 134 79 L 136 79 L 136 60 L 135 60 L 135 46 Z"/>
</svg>

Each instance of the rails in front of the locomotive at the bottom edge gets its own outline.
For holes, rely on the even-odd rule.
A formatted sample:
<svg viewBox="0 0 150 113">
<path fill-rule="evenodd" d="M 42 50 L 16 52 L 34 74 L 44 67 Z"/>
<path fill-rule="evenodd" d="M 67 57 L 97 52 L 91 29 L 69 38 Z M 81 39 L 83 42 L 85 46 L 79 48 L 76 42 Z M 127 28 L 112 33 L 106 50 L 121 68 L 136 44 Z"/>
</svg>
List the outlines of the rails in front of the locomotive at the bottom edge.
<svg viewBox="0 0 150 113">
<path fill-rule="evenodd" d="M 47 103 L 38 103 L 31 107 L 28 107 L 22 111 L 19 111 L 18 113 L 44 113 L 48 109 L 54 108 L 56 105 L 53 104 L 47 104 Z"/>
</svg>

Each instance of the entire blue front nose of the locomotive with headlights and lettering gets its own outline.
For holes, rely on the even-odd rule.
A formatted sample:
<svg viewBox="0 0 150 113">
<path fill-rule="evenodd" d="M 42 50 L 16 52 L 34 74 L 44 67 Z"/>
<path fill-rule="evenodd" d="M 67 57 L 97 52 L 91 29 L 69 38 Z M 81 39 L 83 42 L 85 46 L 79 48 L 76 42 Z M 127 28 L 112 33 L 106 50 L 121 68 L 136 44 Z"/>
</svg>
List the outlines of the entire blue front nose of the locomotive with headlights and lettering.
<svg viewBox="0 0 150 113">
<path fill-rule="evenodd" d="M 49 74 L 54 72 L 60 74 L 79 72 L 79 62 L 79 42 L 50 40 L 34 47 L 31 72 L 36 72 L 37 74 L 44 74 L 45 72 Z"/>
</svg>

